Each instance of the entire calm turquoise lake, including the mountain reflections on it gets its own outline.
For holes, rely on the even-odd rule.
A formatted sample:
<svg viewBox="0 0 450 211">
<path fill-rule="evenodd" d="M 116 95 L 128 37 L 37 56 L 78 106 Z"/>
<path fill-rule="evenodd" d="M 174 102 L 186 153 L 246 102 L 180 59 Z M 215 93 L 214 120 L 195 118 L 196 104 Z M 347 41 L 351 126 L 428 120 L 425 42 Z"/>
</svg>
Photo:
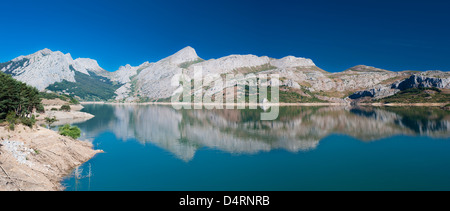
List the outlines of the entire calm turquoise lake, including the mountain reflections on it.
<svg viewBox="0 0 450 211">
<path fill-rule="evenodd" d="M 85 105 L 75 124 L 106 153 L 81 190 L 450 190 L 450 113 L 429 108 L 261 111 Z M 90 177 L 88 175 L 91 174 Z"/>
</svg>

